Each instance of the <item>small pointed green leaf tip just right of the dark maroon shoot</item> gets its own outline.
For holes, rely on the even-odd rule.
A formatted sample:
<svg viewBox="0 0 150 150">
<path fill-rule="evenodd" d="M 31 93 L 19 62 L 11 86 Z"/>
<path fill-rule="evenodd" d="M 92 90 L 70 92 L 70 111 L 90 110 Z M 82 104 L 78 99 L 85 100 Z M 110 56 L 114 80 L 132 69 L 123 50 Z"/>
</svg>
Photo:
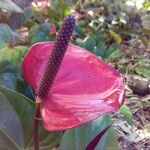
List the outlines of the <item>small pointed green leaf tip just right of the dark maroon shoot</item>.
<svg viewBox="0 0 150 150">
<path fill-rule="evenodd" d="M 108 138 L 104 150 L 119 150 L 117 137 L 112 127 L 108 130 L 107 134 Z"/>
</svg>

